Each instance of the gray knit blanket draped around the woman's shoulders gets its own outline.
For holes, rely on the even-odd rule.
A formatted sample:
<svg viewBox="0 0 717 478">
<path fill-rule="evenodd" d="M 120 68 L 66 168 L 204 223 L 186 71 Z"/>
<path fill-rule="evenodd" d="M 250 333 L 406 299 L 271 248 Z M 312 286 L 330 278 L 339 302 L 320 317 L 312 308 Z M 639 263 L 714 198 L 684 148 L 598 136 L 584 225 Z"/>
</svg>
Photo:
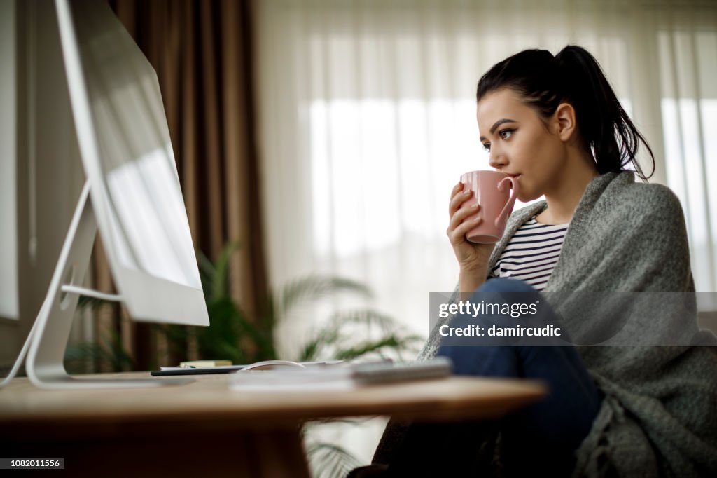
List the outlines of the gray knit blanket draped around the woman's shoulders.
<svg viewBox="0 0 717 478">
<path fill-rule="evenodd" d="M 513 233 L 545 208 L 543 201 L 513 212 L 489 271 Z M 544 290 L 694 291 L 678 198 L 660 184 L 636 183 L 631 172 L 594 178 Z M 551 301 L 571 337 L 600 319 L 575 302 Z M 419 360 L 436 354 L 445 321 Z M 696 322 L 684 332 L 708 346 L 578 347 L 604 400 L 576 451 L 574 477 L 717 477 L 717 339 Z M 404 427 L 389 422 L 374 462 L 391 455 Z"/>
</svg>

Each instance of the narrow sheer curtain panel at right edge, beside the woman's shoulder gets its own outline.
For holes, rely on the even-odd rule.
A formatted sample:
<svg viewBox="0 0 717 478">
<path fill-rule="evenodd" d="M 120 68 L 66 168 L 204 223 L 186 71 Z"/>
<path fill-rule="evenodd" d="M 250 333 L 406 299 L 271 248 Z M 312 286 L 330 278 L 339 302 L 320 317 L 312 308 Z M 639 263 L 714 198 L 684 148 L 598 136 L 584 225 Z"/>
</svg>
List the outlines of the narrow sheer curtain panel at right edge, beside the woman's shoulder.
<svg viewBox="0 0 717 478">
<path fill-rule="evenodd" d="M 657 34 L 668 184 L 687 219 L 698 291 L 717 291 L 717 4 Z M 702 19 L 700 19 L 702 20 Z"/>
</svg>

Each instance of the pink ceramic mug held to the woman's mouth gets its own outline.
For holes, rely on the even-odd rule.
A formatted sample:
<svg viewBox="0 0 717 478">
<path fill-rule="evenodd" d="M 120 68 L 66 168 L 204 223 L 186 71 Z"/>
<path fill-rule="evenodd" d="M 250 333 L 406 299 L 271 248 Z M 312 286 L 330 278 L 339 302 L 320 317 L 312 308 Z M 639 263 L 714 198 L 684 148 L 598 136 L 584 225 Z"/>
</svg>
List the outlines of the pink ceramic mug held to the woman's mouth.
<svg viewBox="0 0 717 478">
<path fill-rule="evenodd" d="M 518 197 L 518 181 L 515 177 L 497 171 L 471 171 L 462 174 L 460 182 L 464 184 L 464 190 L 473 191 L 470 200 L 460 205 L 470 207 L 478 202 L 480 210 L 466 217 L 464 221 L 473 220 L 475 217 L 483 217 L 475 228 L 471 229 L 465 238 L 472 243 L 492 244 L 497 243 L 505 230 L 505 222 L 513 212 L 513 206 Z M 507 187 L 513 190 L 513 194 Z"/>
</svg>

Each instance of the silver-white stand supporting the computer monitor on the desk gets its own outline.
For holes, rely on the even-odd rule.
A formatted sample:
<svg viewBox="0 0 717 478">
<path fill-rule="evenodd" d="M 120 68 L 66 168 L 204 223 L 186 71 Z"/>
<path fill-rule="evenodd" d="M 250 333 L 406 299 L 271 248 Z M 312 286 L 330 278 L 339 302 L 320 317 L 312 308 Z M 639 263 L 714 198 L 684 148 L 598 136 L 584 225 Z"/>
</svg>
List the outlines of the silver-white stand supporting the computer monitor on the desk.
<svg viewBox="0 0 717 478">
<path fill-rule="evenodd" d="M 47 296 L 37 314 L 10 374 L 0 383 L 9 383 L 16 375 L 27 353 L 25 370 L 34 385 L 40 388 L 130 388 L 157 387 L 161 385 L 182 385 L 194 382 L 188 378 L 146 378 L 146 379 L 98 379 L 77 378 L 67 374 L 65 349 L 70 338 L 72 320 L 77 308 L 80 291 L 103 299 L 121 301 L 121 296 L 110 296 L 82 289 L 80 286 L 90 263 L 92 245 L 95 243 L 97 224 L 90 200 L 90 185 L 85 183 L 72 215 L 70 229 L 62 245 Z M 28 350 L 29 349 L 29 350 Z"/>
</svg>

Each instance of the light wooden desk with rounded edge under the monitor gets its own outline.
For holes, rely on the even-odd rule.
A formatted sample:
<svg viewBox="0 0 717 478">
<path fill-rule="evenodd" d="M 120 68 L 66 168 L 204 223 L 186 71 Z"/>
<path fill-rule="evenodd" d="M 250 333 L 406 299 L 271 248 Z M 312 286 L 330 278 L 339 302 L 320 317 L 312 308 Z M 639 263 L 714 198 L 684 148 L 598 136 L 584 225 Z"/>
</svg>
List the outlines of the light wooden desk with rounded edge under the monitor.
<svg viewBox="0 0 717 478">
<path fill-rule="evenodd" d="M 64 457 L 73 477 L 308 477 L 303 421 L 497 418 L 545 393 L 540 383 L 483 378 L 239 393 L 229 390 L 228 378 L 204 375 L 189 385 L 118 390 L 40 390 L 16 379 L 0 389 L 2 456 Z"/>
</svg>

